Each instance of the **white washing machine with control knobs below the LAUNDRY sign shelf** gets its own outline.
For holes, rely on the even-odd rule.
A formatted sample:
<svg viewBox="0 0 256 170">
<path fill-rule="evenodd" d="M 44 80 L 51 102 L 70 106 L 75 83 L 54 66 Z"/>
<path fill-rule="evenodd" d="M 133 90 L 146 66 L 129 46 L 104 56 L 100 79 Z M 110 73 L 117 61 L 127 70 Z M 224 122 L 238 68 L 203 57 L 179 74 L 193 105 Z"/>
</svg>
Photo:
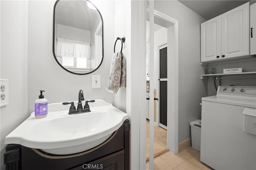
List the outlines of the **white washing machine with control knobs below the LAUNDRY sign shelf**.
<svg viewBox="0 0 256 170">
<path fill-rule="evenodd" d="M 256 87 L 219 86 L 202 98 L 200 160 L 215 170 L 256 170 Z"/>
</svg>

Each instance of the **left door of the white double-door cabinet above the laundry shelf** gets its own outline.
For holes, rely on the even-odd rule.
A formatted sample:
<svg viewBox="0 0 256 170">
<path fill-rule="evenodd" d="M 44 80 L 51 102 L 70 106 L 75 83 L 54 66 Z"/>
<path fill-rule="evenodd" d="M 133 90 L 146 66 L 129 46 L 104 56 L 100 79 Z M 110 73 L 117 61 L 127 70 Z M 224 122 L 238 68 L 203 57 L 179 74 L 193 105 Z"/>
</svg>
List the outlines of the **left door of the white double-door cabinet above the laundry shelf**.
<svg viewBox="0 0 256 170">
<path fill-rule="evenodd" d="M 201 62 L 220 58 L 220 16 L 217 16 L 201 23 Z"/>
</svg>

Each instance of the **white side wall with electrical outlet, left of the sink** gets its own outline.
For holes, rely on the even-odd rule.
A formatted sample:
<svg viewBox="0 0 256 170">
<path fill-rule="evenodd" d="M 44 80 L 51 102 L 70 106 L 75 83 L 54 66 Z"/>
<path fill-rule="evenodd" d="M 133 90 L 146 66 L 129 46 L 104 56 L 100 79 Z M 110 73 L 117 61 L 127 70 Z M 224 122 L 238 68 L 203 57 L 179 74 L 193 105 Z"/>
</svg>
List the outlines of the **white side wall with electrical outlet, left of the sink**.
<svg viewBox="0 0 256 170">
<path fill-rule="evenodd" d="M 0 1 L 1 78 L 9 80 L 9 104 L 0 109 L 1 169 L 4 138 L 27 118 L 28 1 Z"/>
</svg>

